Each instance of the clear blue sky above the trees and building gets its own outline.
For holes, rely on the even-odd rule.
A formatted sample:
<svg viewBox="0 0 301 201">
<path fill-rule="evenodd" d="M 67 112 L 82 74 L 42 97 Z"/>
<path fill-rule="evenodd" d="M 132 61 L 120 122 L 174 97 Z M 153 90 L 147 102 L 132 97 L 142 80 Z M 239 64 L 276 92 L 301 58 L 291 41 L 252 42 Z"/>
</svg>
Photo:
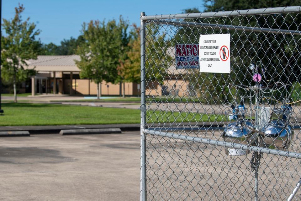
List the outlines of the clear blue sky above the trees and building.
<svg viewBox="0 0 301 201">
<path fill-rule="evenodd" d="M 140 12 L 154 15 L 182 13 L 183 9 L 193 7 L 203 10 L 200 0 L 2 0 L 2 18 L 12 18 L 18 3 L 25 7 L 23 19 L 30 17 L 42 31 L 40 40 L 55 44 L 71 36 L 76 38 L 82 23 L 91 19 L 118 19 L 122 15 L 130 24 L 140 24 Z"/>
</svg>

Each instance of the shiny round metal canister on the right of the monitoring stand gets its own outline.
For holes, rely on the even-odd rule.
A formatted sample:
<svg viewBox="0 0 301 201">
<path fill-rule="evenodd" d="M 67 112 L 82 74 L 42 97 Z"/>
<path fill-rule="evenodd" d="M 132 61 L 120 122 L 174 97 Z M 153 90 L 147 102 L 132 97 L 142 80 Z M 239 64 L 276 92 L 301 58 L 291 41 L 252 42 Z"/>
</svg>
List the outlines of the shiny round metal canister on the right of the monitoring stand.
<svg viewBox="0 0 301 201">
<path fill-rule="evenodd" d="M 285 125 L 282 121 L 273 120 L 264 126 L 261 131 L 264 133 L 264 148 L 287 150 L 293 139 L 293 129 L 290 125 Z"/>
</svg>

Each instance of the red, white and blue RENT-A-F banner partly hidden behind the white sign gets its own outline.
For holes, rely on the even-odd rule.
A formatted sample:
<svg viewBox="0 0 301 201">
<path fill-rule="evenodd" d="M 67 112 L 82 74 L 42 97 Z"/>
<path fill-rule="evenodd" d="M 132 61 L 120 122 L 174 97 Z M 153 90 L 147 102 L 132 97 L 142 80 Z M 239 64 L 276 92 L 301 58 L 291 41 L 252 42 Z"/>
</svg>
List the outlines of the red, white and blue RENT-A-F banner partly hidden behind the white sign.
<svg viewBox="0 0 301 201">
<path fill-rule="evenodd" d="M 199 44 L 178 44 L 175 46 L 176 67 L 199 68 L 198 57 Z"/>
</svg>

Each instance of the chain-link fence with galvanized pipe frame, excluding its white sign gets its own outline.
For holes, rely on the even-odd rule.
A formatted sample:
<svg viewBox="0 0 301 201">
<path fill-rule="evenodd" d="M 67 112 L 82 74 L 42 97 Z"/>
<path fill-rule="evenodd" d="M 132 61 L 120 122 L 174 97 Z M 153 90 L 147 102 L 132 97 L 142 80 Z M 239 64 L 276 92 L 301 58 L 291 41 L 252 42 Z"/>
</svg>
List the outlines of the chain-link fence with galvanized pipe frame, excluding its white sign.
<svg viewBox="0 0 301 201">
<path fill-rule="evenodd" d="M 141 13 L 140 200 L 301 199 L 300 11 Z M 230 73 L 200 72 L 210 34 Z"/>
</svg>

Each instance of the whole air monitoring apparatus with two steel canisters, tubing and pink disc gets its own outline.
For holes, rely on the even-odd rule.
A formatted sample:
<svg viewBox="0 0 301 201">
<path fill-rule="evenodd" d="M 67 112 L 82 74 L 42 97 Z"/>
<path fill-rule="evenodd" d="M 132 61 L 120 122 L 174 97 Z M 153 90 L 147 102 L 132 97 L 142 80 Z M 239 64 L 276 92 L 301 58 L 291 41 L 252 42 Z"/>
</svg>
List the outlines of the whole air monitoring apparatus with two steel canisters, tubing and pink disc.
<svg viewBox="0 0 301 201">
<path fill-rule="evenodd" d="M 274 91 L 279 91 L 286 86 L 281 81 L 274 82 L 273 85 L 268 86 L 260 84 L 263 78 L 266 79 L 265 67 L 261 62 L 257 62 L 256 65 L 250 64 L 249 69 L 252 71 L 252 81 L 255 85 L 233 85 L 235 87 L 234 103 L 231 104 L 231 109 L 225 112 L 230 122 L 224 129 L 223 139 L 225 142 L 236 144 L 288 150 L 293 139 L 293 128 L 290 125 L 293 113 L 292 107 L 288 103 L 289 101 L 283 98 L 282 106 L 278 108 L 278 101 L 272 98 Z M 240 98 L 239 105 L 236 104 L 237 97 Z M 275 106 L 274 109 L 270 110 L 272 100 L 275 101 L 273 103 Z M 249 113 L 245 106 L 249 108 Z M 250 153 L 249 150 L 225 149 L 225 153 L 232 156 Z M 256 163 L 257 168 L 261 155 L 254 152 L 252 160 L 255 157 L 257 157 L 256 160 L 258 161 Z M 251 167 L 255 169 L 255 162 L 253 164 L 251 162 Z"/>
</svg>

